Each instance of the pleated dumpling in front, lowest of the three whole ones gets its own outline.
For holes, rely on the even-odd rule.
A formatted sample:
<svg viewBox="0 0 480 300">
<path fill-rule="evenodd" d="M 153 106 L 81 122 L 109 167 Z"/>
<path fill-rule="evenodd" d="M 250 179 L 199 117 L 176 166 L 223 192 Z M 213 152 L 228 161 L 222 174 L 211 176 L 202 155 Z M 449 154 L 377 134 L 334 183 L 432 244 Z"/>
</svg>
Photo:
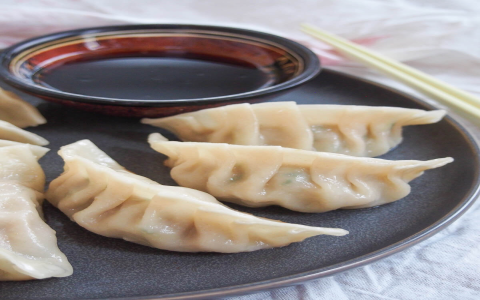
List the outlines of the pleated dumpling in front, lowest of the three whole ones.
<svg viewBox="0 0 480 300">
<path fill-rule="evenodd" d="M 61 148 L 65 172 L 46 198 L 100 235 L 182 252 L 242 252 L 280 247 L 343 229 L 309 227 L 238 212 L 212 196 L 132 174 L 83 140 Z"/>
</svg>

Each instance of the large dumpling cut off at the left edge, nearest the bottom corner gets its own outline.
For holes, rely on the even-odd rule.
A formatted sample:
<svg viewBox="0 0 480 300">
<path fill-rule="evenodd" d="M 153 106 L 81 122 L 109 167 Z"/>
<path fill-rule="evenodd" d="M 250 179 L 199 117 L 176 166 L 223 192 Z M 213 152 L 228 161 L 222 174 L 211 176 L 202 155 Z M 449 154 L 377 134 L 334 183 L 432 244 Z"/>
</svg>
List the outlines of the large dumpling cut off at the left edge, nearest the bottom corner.
<svg viewBox="0 0 480 300">
<path fill-rule="evenodd" d="M 0 281 L 65 277 L 72 266 L 42 219 L 48 149 L 0 140 Z"/>
</svg>

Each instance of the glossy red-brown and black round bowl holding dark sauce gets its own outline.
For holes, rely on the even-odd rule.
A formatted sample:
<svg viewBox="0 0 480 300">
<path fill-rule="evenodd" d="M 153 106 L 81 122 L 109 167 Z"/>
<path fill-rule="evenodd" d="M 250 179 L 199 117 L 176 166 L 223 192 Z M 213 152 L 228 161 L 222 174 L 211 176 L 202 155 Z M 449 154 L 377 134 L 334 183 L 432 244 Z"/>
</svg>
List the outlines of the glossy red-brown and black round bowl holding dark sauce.
<svg viewBox="0 0 480 300">
<path fill-rule="evenodd" d="M 24 92 L 131 117 L 268 100 L 319 72 L 317 56 L 294 41 L 216 26 L 86 28 L 0 54 L 1 78 Z"/>
</svg>

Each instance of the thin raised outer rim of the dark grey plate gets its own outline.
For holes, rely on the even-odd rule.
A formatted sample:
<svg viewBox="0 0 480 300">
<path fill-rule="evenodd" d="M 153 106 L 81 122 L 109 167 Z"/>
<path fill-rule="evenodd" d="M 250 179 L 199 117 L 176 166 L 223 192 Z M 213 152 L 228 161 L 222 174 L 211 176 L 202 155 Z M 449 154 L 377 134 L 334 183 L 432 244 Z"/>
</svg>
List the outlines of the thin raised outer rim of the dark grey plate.
<svg viewBox="0 0 480 300">
<path fill-rule="evenodd" d="M 388 90 L 392 93 L 399 94 L 405 98 L 408 98 L 412 102 L 419 104 L 428 109 L 438 109 L 437 107 L 427 103 L 420 98 L 412 96 L 406 92 L 400 91 L 393 87 L 387 86 L 382 83 L 378 83 L 369 79 L 361 78 L 356 75 L 347 74 L 341 71 L 332 70 L 330 68 L 323 68 L 322 73 L 333 73 L 335 75 L 340 75 L 344 77 L 348 77 L 349 79 L 354 79 L 356 81 L 361 81 L 363 83 L 374 85 L 381 89 Z M 465 193 L 462 200 L 452 209 L 450 210 L 443 218 L 437 220 L 432 225 L 426 227 L 425 229 L 417 232 L 416 234 L 410 235 L 409 237 L 404 238 L 401 241 L 398 241 L 394 244 L 391 244 L 387 247 L 383 247 L 376 251 L 370 252 L 368 254 L 359 256 L 355 259 L 347 260 L 341 263 L 337 263 L 331 265 L 329 267 L 315 269 L 308 272 L 302 272 L 295 275 L 289 275 L 284 277 L 279 277 L 270 280 L 264 280 L 254 283 L 246 283 L 236 286 L 228 286 L 222 288 L 214 288 L 208 290 L 201 290 L 201 291 L 192 291 L 192 292 L 184 292 L 184 293 L 174 293 L 174 294 L 165 294 L 165 295 L 151 295 L 151 296 L 140 296 L 140 297 L 117 297 L 117 298 L 109 298 L 109 299 L 116 299 L 116 300 L 133 300 L 133 299 L 168 299 L 168 300 L 199 300 L 199 299 L 212 299 L 218 297 L 232 297 L 232 296 L 240 296 L 240 295 L 247 295 L 258 293 L 262 291 L 267 291 L 271 289 L 277 289 L 282 287 L 294 286 L 303 284 L 307 281 L 312 281 L 315 279 L 321 279 L 328 276 L 333 276 L 335 274 L 359 268 L 365 266 L 367 264 L 376 262 L 380 259 L 387 258 L 393 254 L 399 253 L 407 248 L 410 248 L 430 237 L 437 234 L 438 232 L 442 231 L 450 224 L 458 220 L 477 200 L 478 196 L 480 195 L 480 148 L 479 148 L 479 141 L 475 138 L 475 136 L 470 132 L 470 130 L 464 126 L 462 126 L 458 121 L 456 121 L 450 115 L 446 115 L 444 120 L 450 123 L 459 133 L 461 133 L 468 142 L 472 152 L 476 153 L 474 165 L 476 166 L 475 175 L 473 179 L 473 186 L 470 190 Z M 99 298 L 100 299 L 100 298 Z"/>
</svg>

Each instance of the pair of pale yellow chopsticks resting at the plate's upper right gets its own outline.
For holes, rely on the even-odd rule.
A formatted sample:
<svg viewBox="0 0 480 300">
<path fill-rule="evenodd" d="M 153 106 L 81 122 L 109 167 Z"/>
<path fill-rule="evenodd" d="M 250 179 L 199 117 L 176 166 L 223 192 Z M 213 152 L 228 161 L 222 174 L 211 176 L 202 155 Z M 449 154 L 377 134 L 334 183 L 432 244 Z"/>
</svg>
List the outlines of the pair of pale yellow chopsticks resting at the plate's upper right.
<svg viewBox="0 0 480 300">
<path fill-rule="evenodd" d="M 333 46 L 339 52 L 383 71 L 420 92 L 480 119 L 479 97 L 312 25 L 303 24 L 302 30 Z"/>
</svg>

